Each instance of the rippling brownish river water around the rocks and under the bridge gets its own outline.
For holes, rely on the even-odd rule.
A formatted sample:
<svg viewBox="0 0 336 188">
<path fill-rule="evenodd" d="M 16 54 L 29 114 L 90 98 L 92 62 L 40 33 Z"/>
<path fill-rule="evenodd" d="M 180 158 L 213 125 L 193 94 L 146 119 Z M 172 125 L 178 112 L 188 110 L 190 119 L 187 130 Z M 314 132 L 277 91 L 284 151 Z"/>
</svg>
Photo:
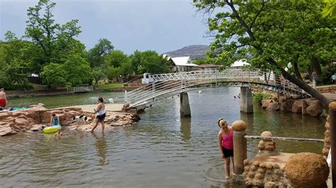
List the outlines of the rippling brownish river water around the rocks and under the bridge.
<svg viewBox="0 0 336 188">
<path fill-rule="evenodd" d="M 180 118 L 177 96 L 160 100 L 140 114 L 142 119 L 135 127 L 118 127 L 105 134 L 65 128 L 60 139 L 41 133 L 0 137 L 1 187 L 245 187 L 223 182 L 223 159 L 217 145 L 220 117 L 228 119 L 229 124 L 245 120 L 248 135 L 267 130 L 274 136 L 323 139 L 324 117 L 267 112 L 257 105 L 254 114 L 240 114 L 240 100 L 233 99 L 238 93 L 239 88 L 189 92 L 191 118 Z M 106 98 L 123 95 L 110 94 Z M 53 100 L 53 106 L 47 107 L 56 107 L 55 101 L 62 106 L 74 100 L 90 101 L 96 95 L 30 101 L 43 100 L 47 105 Z M 16 99 L 13 104 L 21 100 L 28 102 Z M 257 143 L 249 140 L 249 158 L 257 153 Z M 323 143 L 276 141 L 276 148 L 281 152 L 321 154 Z"/>
</svg>

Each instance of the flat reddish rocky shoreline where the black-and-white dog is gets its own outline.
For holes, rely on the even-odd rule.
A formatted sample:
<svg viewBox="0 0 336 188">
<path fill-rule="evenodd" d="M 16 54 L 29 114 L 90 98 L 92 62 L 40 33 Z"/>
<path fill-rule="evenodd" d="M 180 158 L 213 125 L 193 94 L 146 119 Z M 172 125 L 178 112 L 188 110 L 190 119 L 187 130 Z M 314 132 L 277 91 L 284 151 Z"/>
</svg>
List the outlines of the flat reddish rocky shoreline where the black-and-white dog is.
<svg viewBox="0 0 336 188">
<path fill-rule="evenodd" d="M 46 124 L 50 123 L 51 115 L 55 113 L 60 117 L 60 124 L 69 127 L 70 130 L 90 131 L 95 114 L 83 112 L 81 108 L 64 107 L 57 109 L 47 109 L 41 105 L 32 105 L 25 110 L 0 111 L 0 136 L 7 136 L 23 131 L 41 131 Z M 87 124 L 74 122 L 73 116 L 86 115 L 89 119 Z M 128 112 L 106 112 L 105 129 L 114 127 L 127 127 L 140 120 L 137 114 Z M 97 127 L 101 129 L 101 126 Z"/>
</svg>

